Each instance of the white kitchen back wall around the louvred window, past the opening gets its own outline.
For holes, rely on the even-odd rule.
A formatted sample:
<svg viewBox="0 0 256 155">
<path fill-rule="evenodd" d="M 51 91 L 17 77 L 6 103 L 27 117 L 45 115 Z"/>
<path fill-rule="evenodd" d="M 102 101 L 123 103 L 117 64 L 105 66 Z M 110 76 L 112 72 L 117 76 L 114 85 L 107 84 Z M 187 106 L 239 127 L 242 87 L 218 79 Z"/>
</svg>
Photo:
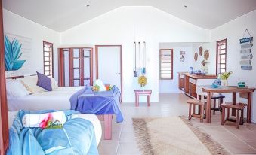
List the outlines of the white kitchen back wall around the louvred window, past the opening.
<svg viewBox="0 0 256 155">
<path fill-rule="evenodd" d="M 192 44 L 160 43 L 159 49 L 173 49 L 173 79 L 159 80 L 159 93 L 180 93 L 177 72 L 189 71 L 192 63 Z M 180 51 L 185 51 L 185 60 L 180 62 Z"/>
</svg>

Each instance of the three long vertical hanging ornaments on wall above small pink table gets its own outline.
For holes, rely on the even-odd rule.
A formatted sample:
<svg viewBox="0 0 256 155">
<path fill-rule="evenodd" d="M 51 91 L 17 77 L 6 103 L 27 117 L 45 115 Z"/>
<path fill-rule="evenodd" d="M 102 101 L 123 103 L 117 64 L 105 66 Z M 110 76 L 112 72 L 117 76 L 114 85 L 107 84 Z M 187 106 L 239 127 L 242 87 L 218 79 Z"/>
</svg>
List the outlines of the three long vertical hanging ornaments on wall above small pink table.
<svg viewBox="0 0 256 155">
<path fill-rule="evenodd" d="M 140 42 L 134 41 L 134 77 L 140 74 L 146 74 L 146 42 L 143 41 L 141 50 Z"/>
</svg>

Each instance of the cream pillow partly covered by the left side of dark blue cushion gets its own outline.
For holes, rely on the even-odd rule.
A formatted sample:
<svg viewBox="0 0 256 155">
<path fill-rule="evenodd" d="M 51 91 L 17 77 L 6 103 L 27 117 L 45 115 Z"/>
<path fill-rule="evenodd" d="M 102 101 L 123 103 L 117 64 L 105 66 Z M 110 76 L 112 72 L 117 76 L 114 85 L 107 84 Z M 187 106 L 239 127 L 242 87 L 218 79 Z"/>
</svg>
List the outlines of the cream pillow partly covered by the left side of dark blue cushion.
<svg viewBox="0 0 256 155">
<path fill-rule="evenodd" d="M 37 86 L 36 85 L 37 81 L 38 81 L 38 78 L 36 75 L 26 76 L 21 79 L 21 84 L 23 84 L 24 87 L 26 87 L 26 90 L 30 91 L 31 93 L 40 93 L 40 92 L 47 91 L 44 88 Z"/>
</svg>

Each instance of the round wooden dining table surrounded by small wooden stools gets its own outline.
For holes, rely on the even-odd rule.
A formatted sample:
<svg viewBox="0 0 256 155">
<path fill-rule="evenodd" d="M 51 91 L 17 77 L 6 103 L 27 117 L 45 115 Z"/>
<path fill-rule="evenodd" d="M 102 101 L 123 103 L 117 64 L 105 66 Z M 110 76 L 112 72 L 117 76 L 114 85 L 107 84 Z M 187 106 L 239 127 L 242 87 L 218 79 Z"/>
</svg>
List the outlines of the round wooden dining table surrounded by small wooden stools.
<svg viewBox="0 0 256 155">
<path fill-rule="evenodd" d="M 232 93 L 233 94 L 233 105 L 236 104 L 236 94 L 242 93 L 247 94 L 245 98 L 247 98 L 247 123 L 251 123 L 251 104 L 252 104 L 252 93 L 254 92 L 254 87 L 237 87 L 237 86 L 229 86 L 229 87 L 212 87 L 202 86 L 202 92 L 207 93 L 207 96 L 212 96 L 213 93 Z M 207 97 L 207 103 L 205 108 L 206 122 L 211 123 L 211 97 Z M 236 111 L 232 111 L 232 115 L 236 115 Z"/>
</svg>

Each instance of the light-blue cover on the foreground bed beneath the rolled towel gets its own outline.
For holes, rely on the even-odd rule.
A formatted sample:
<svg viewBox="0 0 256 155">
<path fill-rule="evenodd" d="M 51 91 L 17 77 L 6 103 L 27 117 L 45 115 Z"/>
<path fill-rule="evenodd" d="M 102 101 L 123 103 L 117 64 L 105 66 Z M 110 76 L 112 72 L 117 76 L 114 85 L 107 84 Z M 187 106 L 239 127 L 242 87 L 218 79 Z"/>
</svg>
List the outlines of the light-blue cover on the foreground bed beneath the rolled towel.
<svg viewBox="0 0 256 155">
<path fill-rule="evenodd" d="M 44 114 L 54 111 L 19 111 L 10 129 L 8 155 L 98 154 L 94 126 L 82 118 L 69 119 L 78 111 L 64 111 L 67 122 L 63 129 L 25 128 L 25 114 Z"/>
</svg>

